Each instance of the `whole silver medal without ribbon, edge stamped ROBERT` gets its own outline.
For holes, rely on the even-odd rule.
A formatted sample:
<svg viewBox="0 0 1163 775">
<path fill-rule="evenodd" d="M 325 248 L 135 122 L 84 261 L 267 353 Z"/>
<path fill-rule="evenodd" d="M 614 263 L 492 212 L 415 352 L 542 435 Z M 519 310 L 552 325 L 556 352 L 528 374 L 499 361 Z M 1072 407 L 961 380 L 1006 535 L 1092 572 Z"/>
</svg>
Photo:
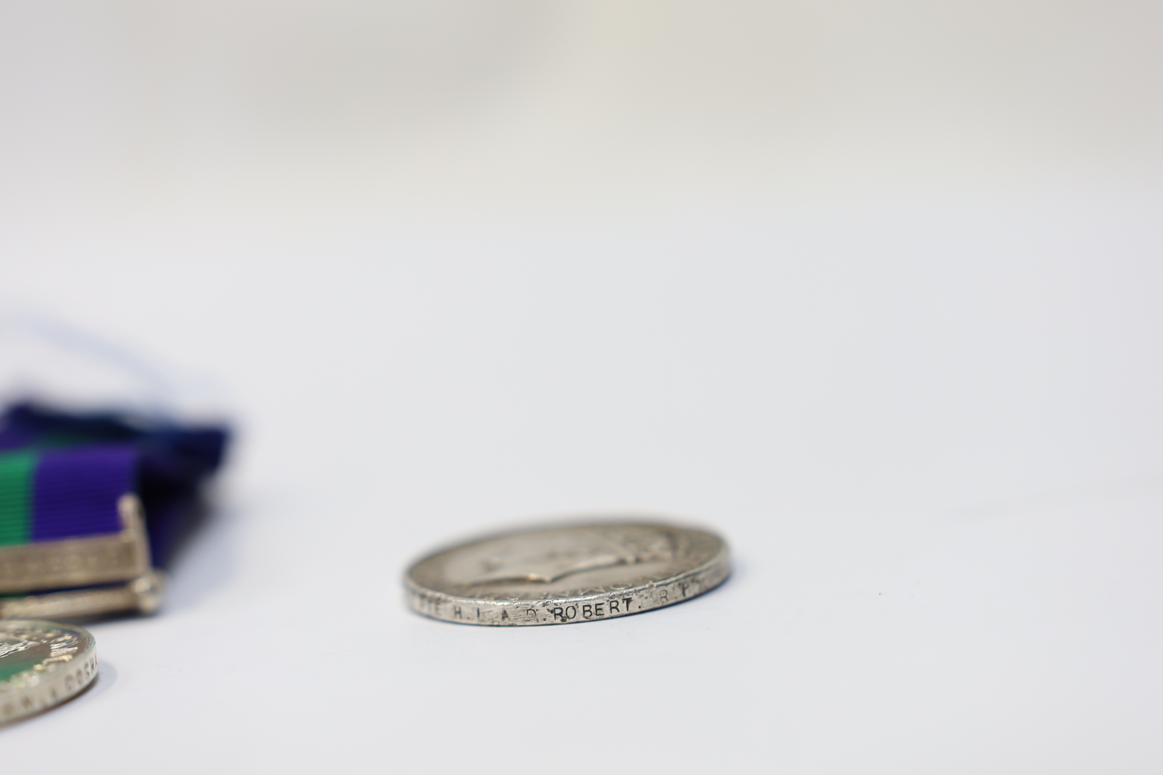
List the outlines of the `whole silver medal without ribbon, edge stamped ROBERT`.
<svg viewBox="0 0 1163 775">
<path fill-rule="evenodd" d="M 408 603 L 466 624 L 565 624 L 637 613 L 701 595 L 730 573 L 727 545 L 701 530 L 595 522 L 506 533 L 427 557 Z"/>
</svg>

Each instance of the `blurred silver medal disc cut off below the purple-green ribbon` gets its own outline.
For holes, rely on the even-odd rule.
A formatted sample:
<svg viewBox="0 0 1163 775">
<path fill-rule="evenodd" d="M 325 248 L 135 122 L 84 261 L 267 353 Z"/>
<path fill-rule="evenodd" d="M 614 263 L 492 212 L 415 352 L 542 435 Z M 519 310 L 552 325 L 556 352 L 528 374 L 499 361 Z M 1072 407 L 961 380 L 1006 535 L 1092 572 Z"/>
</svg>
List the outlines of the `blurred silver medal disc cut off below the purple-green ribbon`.
<svg viewBox="0 0 1163 775">
<path fill-rule="evenodd" d="M 37 619 L 0 622 L 0 724 L 63 703 L 95 677 L 88 630 Z"/>
</svg>

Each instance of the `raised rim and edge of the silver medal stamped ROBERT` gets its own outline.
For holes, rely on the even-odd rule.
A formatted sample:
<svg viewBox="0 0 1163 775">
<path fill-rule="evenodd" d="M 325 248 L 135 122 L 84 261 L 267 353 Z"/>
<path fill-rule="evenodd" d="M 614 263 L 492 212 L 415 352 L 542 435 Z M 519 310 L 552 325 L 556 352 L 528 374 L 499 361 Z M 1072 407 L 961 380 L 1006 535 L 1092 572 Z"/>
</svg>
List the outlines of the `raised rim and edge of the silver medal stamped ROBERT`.
<svg viewBox="0 0 1163 775">
<path fill-rule="evenodd" d="M 704 562 L 700 562 L 699 565 L 697 565 L 694 567 L 691 567 L 688 569 L 682 571 L 680 573 L 676 573 L 676 574 L 673 574 L 671 576 L 666 576 L 664 579 L 658 579 L 656 581 L 649 581 L 649 582 L 641 583 L 641 584 L 635 584 L 633 587 L 627 587 L 626 589 L 619 589 L 619 590 L 612 590 L 612 591 L 602 591 L 602 593 L 594 593 L 594 594 L 590 594 L 590 595 L 565 595 L 565 596 L 561 596 L 561 597 L 545 597 L 545 598 L 525 600 L 525 601 L 521 601 L 521 600 L 516 600 L 516 601 L 514 601 L 514 600 L 488 600 L 488 598 L 479 598 L 479 597 L 469 597 L 469 596 L 463 596 L 463 595 L 455 595 L 455 594 L 451 594 L 451 593 L 447 593 L 447 591 L 441 591 L 441 590 L 437 590 L 437 589 L 433 589 L 431 587 L 427 587 L 424 584 L 421 584 L 420 582 L 418 582 L 413 577 L 413 572 L 421 564 L 427 562 L 428 560 L 431 560 L 431 559 L 434 559 L 436 557 L 440 557 L 441 554 L 444 554 L 445 552 L 451 552 L 454 550 L 458 550 L 458 548 L 463 548 L 463 547 L 466 547 L 466 546 L 471 546 L 471 545 L 480 543 L 480 541 L 485 541 L 485 540 L 490 540 L 490 539 L 495 539 L 495 538 L 506 538 L 506 537 L 511 537 L 511 536 L 520 536 L 522 533 L 531 533 L 531 532 L 540 532 L 540 531 L 547 531 L 547 530 L 558 530 L 558 529 L 565 530 L 565 529 L 571 529 L 571 528 L 588 528 L 588 526 L 593 526 L 593 525 L 642 525 L 642 526 L 663 528 L 663 529 L 668 529 L 668 530 L 682 530 L 682 531 L 686 531 L 686 532 L 697 532 L 697 533 L 702 533 L 704 536 L 707 536 L 707 537 L 713 538 L 716 541 L 719 541 L 719 548 L 718 548 L 718 551 L 715 552 L 715 554 L 713 557 L 711 557 L 709 559 L 705 560 Z M 730 547 L 728 546 L 727 540 L 722 536 L 720 536 L 719 533 L 713 532 L 711 530 L 707 530 L 705 528 L 686 526 L 686 525 L 683 525 L 683 524 L 676 524 L 676 523 L 671 523 L 671 522 L 663 522 L 661 519 L 649 519 L 649 518 L 648 519 L 625 519 L 625 518 L 619 519 L 616 517 L 615 518 L 608 518 L 608 519 L 604 519 L 604 518 L 588 518 L 588 519 L 586 519 L 586 518 L 575 518 L 575 519 L 570 519 L 568 522 L 559 522 L 559 523 L 544 523 L 544 522 L 541 522 L 541 523 L 529 524 L 529 525 L 526 525 L 526 526 L 519 528 L 519 529 L 492 531 L 490 533 L 480 534 L 480 536 L 478 536 L 476 538 L 472 538 L 472 539 L 469 539 L 469 540 L 461 540 L 461 541 L 457 541 L 455 544 L 454 543 L 447 544 L 447 545 L 442 546 L 441 548 L 438 548 L 436 551 L 433 551 L 433 552 L 429 552 L 428 554 L 423 555 L 419 560 L 412 562 L 408 566 L 407 572 L 404 574 L 404 583 L 405 583 L 405 589 L 408 593 L 408 608 L 411 608 L 413 611 L 415 611 L 418 613 L 421 613 L 423 616 L 427 616 L 429 618 L 438 619 L 441 622 L 450 622 L 452 624 L 473 624 L 473 625 L 478 625 L 478 626 L 538 626 L 538 625 L 545 625 L 545 624 L 566 624 L 566 623 L 569 623 L 569 624 L 576 624 L 576 623 L 583 622 L 583 620 L 598 620 L 598 619 L 608 619 L 608 618 L 620 618 L 622 616 L 633 616 L 633 615 L 636 615 L 636 613 L 643 613 L 643 612 L 647 612 L 647 611 L 651 611 L 651 610 L 655 610 L 655 609 L 658 609 L 658 608 L 665 608 L 668 605 L 673 605 L 676 603 L 682 603 L 682 602 L 684 602 L 686 600 L 693 600 L 694 597 L 698 597 L 699 595 L 702 595 L 705 593 L 711 591 L 712 589 L 714 589 L 714 588 L 719 587 L 721 583 L 723 583 L 730 576 L 730 572 L 732 572 L 732 567 L 730 567 Z M 513 610 L 513 609 L 530 610 L 530 609 L 538 609 L 540 608 L 540 609 L 549 611 L 552 608 L 557 608 L 557 607 L 583 605 L 583 604 L 586 604 L 586 603 L 601 603 L 601 604 L 605 604 L 606 601 L 611 601 L 611 600 L 613 600 L 613 601 L 621 601 L 621 600 L 626 598 L 627 596 L 634 597 L 636 595 L 642 595 L 642 594 L 645 594 L 645 593 L 650 593 L 650 591 L 655 591 L 655 590 L 662 590 L 663 588 L 668 588 L 669 589 L 671 587 L 680 586 L 683 581 L 685 581 L 687 579 L 691 579 L 693 576 L 700 576 L 700 575 L 702 575 L 702 576 L 709 576 L 709 582 L 705 583 L 705 584 L 700 584 L 701 588 L 698 591 L 695 591 L 695 593 L 693 593 L 691 595 L 686 595 L 686 591 L 685 591 L 686 588 L 682 587 L 683 588 L 683 597 L 676 597 L 673 600 L 670 600 L 669 596 L 668 596 L 668 597 L 665 597 L 663 600 L 663 602 L 655 602 L 654 604 L 650 604 L 649 607 L 645 607 L 645 608 L 641 607 L 641 604 L 640 604 L 638 610 L 635 610 L 635 611 L 619 611 L 619 612 L 615 612 L 615 613 L 606 613 L 606 615 L 598 616 L 598 617 L 595 617 L 593 619 L 590 619 L 590 618 L 585 618 L 585 619 L 578 618 L 577 622 L 575 622 L 572 619 L 570 619 L 569 622 L 565 622 L 565 620 L 554 620 L 554 619 L 545 620 L 545 619 L 541 619 L 541 618 L 538 618 L 537 620 L 516 620 L 515 617 L 509 617 L 507 620 L 484 620 L 484 619 L 479 619 L 479 618 L 477 620 L 473 620 L 473 619 L 465 619 L 465 618 L 454 617 L 451 615 L 441 613 L 440 610 L 438 610 L 438 607 L 440 605 L 444 605 L 444 604 L 448 604 L 448 605 L 454 607 L 454 608 L 455 607 L 470 605 L 470 607 L 477 607 L 478 609 L 485 609 L 486 611 L 490 612 L 491 617 L 495 617 L 495 616 L 499 616 L 500 611 L 502 611 L 502 610 L 504 611 L 508 611 L 508 610 Z M 426 604 L 426 602 L 427 602 L 427 604 Z M 436 604 L 435 608 L 431 605 L 431 603 Z M 426 610 L 426 608 L 433 608 L 433 610 Z M 506 616 L 507 616 L 507 613 L 506 613 Z M 478 617 L 479 617 L 479 610 L 478 610 Z"/>
</svg>

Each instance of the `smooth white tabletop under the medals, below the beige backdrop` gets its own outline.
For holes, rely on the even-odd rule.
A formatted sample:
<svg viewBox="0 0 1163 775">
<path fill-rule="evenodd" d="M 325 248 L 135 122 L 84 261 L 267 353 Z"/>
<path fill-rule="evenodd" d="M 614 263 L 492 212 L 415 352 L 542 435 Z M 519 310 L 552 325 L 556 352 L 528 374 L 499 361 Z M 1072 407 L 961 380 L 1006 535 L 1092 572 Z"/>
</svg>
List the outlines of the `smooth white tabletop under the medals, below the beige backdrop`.
<svg viewBox="0 0 1163 775">
<path fill-rule="evenodd" d="M 134 237 L 86 261 L 24 243 L 15 287 L 229 375 L 242 437 L 165 611 L 94 626 L 100 683 L 0 732 L 3 755 L 1151 772 L 1160 244 L 1140 217 Z M 433 544 L 623 508 L 714 525 L 735 575 L 576 626 L 404 609 Z"/>
</svg>

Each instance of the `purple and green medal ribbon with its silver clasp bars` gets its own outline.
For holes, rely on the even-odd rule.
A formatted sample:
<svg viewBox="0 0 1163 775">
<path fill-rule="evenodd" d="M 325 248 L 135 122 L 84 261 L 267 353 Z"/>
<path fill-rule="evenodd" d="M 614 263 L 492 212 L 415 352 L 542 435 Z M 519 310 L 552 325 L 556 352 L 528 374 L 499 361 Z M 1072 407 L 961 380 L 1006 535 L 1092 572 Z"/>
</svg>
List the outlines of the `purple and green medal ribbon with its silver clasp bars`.
<svg viewBox="0 0 1163 775">
<path fill-rule="evenodd" d="M 0 619 L 150 613 L 227 432 L 16 406 L 0 418 Z"/>
</svg>

